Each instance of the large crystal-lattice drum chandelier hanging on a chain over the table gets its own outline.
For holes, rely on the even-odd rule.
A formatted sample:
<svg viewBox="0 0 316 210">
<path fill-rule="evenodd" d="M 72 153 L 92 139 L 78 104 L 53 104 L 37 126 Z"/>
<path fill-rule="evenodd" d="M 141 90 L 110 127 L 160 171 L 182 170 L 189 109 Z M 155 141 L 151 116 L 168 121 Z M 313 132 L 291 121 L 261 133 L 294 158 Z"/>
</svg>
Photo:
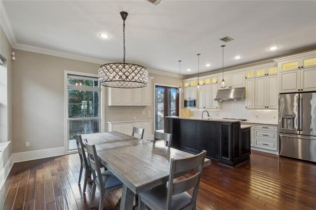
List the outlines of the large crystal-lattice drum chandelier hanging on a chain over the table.
<svg viewBox="0 0 316 210">
<path fill-rule="evenodd" d="M 119 13 L 123 19 L 123 63 L 110 63 L 100 66 L 100 85 L 114 88 L 140 88 L 148 83 L 148 71 L 137 64 L 125 63 L 125 20 L 127 12 Z"/>
</svg>

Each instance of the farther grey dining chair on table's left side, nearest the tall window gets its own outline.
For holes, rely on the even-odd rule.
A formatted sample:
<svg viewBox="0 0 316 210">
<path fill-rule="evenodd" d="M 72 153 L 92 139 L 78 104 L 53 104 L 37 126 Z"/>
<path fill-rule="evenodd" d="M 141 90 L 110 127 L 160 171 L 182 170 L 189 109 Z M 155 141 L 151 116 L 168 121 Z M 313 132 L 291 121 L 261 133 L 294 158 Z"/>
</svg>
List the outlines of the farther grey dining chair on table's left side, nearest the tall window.
<svg viewBox="0 0 316 210">
<path fill-rule="evenodd" d="M 85 192 L 86 186 L 87 186 L 87 181 L 88 177 L 91 176 L 91 167 L 90 167 L 90 161 L 85 155 L 84 151 L 84 146 L 82 142 L 81 135 L 74 134 L 74 138 L 77 143 L 77 148 L 79 152 L 79 157 L 80 157 L 80 172 L 79 172 L 79 181 L 78 184 L 80 184 L 81 176 L 82 176 L 82 170 L 84 168 L 84 181 L 83 181 L 83 190 L 82 193 Z"/>
</svg>

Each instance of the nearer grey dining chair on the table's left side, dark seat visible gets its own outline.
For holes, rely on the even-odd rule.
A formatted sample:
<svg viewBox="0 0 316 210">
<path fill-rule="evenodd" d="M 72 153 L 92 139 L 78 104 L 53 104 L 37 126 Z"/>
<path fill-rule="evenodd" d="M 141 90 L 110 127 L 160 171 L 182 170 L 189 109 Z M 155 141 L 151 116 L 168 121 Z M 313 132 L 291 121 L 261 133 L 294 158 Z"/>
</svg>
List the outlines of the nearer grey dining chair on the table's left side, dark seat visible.
<svg viewBox="0 0 316 210">
<path fill-rule="evenodd" d="M 96 187 L 98 187 L 101 193 L 99 210 L 103 210 L 105 192 L 122 188 L 123 183 L 109 170 L 101 173 L 99 161 L 94 160 L 94 157 L 97 157 L 97 151 L 94 144 L 90 145 L 85 143 L 85 147 L 87 149 L 88 158 L 91 164 L 92 175 L 95 177 L 93 178 L 91 208 L 94 202 Z"/>
</svg>

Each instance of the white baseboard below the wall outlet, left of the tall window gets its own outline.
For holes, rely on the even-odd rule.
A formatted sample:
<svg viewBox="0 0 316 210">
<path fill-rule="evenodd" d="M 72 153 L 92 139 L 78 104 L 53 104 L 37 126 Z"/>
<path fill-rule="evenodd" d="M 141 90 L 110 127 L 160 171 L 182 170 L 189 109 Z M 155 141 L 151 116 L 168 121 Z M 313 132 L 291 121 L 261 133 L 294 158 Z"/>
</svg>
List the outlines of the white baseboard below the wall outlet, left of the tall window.
<svg viewBox="0 0 316 210">
<path fill-rule="evenodd" d="M 17 152 L 11 156 L 11 163 L 23 162 L 28 160 L 36 160 L 47 157 L 54 157 L 65 154 L 65 147 L 55 147 L 51 149 L 40 149 L 28 152 Z"/>
</svg>

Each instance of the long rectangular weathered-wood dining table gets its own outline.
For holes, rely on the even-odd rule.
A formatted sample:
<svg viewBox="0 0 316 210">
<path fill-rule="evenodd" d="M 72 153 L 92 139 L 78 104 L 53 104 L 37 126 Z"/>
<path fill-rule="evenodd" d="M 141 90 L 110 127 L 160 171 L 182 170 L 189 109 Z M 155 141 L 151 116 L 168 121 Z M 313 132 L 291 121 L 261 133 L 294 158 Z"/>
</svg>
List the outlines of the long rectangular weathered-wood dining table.
<svg viewBox="0 0 316 210">
<path fill-rule="evenodd" d="M 81 136 L 89 144 L 95 144 L 100 162 L 123 182 L 120 210 L 132 210 L 135 194 L 166 183 L 172 158 L 193 156 L 119 132 Z M 204 166 L 208 165 L 210 160 L 205 158 Z"/>
</svg>

